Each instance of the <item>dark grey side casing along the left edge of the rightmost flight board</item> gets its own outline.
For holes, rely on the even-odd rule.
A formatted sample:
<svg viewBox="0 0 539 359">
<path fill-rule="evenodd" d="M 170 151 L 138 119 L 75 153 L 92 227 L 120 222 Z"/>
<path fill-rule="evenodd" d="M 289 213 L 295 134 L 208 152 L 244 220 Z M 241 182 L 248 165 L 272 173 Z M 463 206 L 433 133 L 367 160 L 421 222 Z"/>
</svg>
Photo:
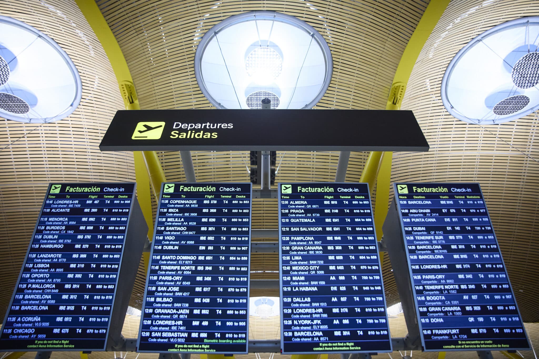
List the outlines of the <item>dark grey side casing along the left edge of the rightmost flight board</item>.
<svg viewBox="0 0 539 359">
<path fill-rule="evenodd" d="M 417 322 L 416 305 L 412 294 L 412 281 L 395 199 L 391 202 L 388 215 L 385 217 L 383 233 L 382 246 L 387 248 L 389 254 L 397 291 L 403 306 L 406 327 L 408 328 L 408 334 L 404 339 L 405 346 L 412 349 L 421 349 L 421 336 Z"/>
</svg>

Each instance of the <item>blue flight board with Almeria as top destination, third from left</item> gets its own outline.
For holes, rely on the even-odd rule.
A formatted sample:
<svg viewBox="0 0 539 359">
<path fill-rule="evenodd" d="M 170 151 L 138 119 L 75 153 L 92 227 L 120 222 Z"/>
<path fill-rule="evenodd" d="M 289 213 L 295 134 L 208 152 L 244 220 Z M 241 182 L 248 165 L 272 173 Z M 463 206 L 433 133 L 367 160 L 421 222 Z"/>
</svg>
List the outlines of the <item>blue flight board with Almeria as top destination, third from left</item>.
<svg viewBox="0 0 539 359">
<path fill-rule="evenodd" d="M 367 184 L 279 184 L 282 353 L 389 352 Z"/>
</svg>

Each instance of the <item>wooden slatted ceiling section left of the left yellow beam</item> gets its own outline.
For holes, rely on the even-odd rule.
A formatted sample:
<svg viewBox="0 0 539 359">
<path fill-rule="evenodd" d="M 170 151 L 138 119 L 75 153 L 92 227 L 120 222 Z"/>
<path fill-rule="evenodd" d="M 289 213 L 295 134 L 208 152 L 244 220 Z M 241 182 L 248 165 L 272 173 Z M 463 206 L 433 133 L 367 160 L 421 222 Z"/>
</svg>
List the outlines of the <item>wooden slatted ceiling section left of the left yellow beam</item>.
<svg viewBox="0 0 539 359">
<path fill-rule="evenodd" d="M 131 153 L 102 153 L 98 144 L 123 107 L 112 68 L 71 1 L 0 3 L 0 15 L 26 22 L 56 40 L 82 80 L 82 101 L 59 122 L 24 124 L 0 118 L 0 318 L 4 317 L 49 182 L 133 181 Z M 0 35 L 1 37 L 1 35 Z"/>
</svg>

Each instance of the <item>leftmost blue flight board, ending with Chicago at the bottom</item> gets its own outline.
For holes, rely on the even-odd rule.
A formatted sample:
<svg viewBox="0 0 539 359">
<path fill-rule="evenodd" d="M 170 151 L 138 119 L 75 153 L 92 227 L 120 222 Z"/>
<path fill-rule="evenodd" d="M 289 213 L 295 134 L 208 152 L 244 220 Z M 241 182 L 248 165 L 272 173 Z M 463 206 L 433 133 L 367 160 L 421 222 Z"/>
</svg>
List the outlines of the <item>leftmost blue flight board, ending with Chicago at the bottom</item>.
<svg viewBox="0 0 539 359">
<path fill-rule="evenodd" d="M 0 350 L 105 350 L 134 190 L 127 183 L 49 186 Z"/>
</svg>

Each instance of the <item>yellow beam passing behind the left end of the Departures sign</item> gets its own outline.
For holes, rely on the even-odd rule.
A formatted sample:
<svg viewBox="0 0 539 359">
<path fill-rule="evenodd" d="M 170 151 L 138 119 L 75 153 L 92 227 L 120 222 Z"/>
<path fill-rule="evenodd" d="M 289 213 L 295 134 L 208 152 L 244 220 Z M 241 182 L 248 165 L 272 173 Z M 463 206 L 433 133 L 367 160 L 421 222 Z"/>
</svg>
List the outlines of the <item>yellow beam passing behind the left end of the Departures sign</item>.
<svg viewBox="0 0 539 359">
<path fill-rule="evenodd" d="M 127 62 L 116 41 L 114 34 L 110 31 L 108 24 L 103 17 L 98 5 L 94 0 L 75 0 L 80 11 L 85 16 L 88 24 L 98 37 L 107 54 L 110 65 L 118 80 L 120 94 L 127 110 L 140 110 L 139 100 L 136 95 L 133 78 L 129 72 Z M 135 163 L 135 178 L 137 182 L 137 198 L 144 214 L 144 219 L 148 224 L 148 238 L 152 239 L 154 234 L 154 223 L 151 210 L 150 184 L 156 198 L 159 196 L 161 182 L 166 182 L 163 168 L 155 151 L 133 152 Z M 148 270 L 149 253 L 143 254 L 144 265 Z"/>
</svg>

